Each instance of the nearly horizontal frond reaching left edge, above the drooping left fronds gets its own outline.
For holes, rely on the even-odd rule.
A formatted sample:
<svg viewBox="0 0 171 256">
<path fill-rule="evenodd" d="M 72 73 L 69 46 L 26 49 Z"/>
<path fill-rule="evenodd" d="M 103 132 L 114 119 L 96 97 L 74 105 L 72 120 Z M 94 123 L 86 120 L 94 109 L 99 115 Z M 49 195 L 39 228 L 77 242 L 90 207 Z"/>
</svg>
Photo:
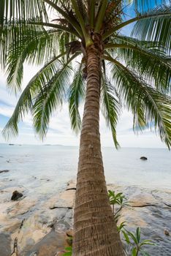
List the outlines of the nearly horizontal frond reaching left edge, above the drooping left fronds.
<svg viewBox="0 0 171 256">
<path fill-rule="evenodd" d="M 32 54 L 34 61 L 32 60 L 31 64 L 42 64 L 43 56 L 45 60 L 50 59 L 50 54 L 56 55 L 56 53 L 61 50 L 61 45 L 63 51 L 64 45 L 77 37 L 75 36 L 75 31 L 72 29 L 65 27 L 63 31 L 63 26 L 53 24 L 54 27 L 51 28 L 51 23 L 47 23 L 51 29 L 46 30 L 44 24 L 46 23 L 39 23 L 35 20 L 28 21 L 27 23 L 16 21 L 15 23 L 7 23 L 2 29 L 0 28 L 1 67 L 7 66 L 7 56 L 9 56 L 8 59 L 19 59 L 21 52 L 24 50 L 30 52 L 31 49 L 32 52 L 34 52 L 34 54 Z M 47 54 L 39 54 L 39 49 L 41 49 L 42 52 L 45 50 Z M 27 54 L 27 56 L 28 55 L 29 54 Z"/>
</svg>

